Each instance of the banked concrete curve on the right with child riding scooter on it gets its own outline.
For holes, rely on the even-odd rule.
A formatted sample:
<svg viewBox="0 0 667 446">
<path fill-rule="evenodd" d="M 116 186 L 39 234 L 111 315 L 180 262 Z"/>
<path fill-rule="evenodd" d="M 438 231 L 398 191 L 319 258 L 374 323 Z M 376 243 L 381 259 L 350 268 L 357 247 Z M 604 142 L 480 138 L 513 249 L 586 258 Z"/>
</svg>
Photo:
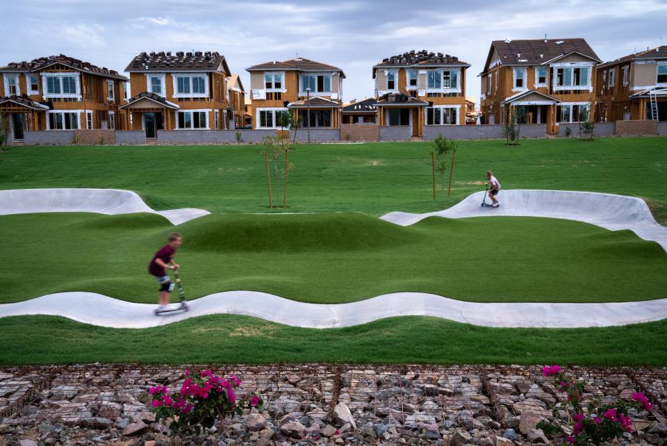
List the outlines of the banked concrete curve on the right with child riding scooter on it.
<svg viewBox="0 0 667 446">
<path fill-rule="evenodd" d="M 625 195 L 566 190 L 501 190 L 499 208 L 481 207 L 484 192 L 469 195 L 449 209 L 426 214 L 392 212 L 382 220 L 409 226 L 426 217 L 550 217 L 576 220 L 611 231 L 629 229 L 667 251 L 667 228 L 658 224 L 643 199 Z M 486 201 L 490 201 L 488 198 Z"/>
</svg>

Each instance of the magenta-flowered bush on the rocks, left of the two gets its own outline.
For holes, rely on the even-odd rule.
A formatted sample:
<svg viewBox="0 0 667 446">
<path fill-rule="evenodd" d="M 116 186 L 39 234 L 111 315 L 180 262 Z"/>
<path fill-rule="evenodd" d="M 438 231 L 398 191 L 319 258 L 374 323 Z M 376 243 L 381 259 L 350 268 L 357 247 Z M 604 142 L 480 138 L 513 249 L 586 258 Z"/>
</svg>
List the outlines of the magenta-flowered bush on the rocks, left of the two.
<svg viewBox="0 0 667 446">
<path fill-rule="evenodd" d="M 171 420 L 172 433 L 199 435 L 202 428 L 210 429 L 224 418 L 241 415 L 244 409 L 264 410 L 261 397 L 254 392 L 247 395 L 248 400 L 238 399 L 235 393 L 241 383 L 238 377 L 217 377 L 211 370 L 185 374 L 178 393 L 171 394 L 167 386 L 149 388 L 156 422 L 167 424 Z"/>
</svg>

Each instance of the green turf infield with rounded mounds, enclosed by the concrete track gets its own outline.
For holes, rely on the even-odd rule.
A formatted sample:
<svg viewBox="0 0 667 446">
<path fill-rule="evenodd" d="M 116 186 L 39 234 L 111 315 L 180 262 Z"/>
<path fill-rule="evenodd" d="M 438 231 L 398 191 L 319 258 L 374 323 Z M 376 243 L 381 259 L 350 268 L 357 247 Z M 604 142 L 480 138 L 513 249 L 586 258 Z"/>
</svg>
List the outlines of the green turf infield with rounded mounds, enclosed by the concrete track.
<svg viewBox="0 0 667 446">
<path fill-rule="evenodd" d="M 158 215 L 0 217 L 0 302 L 91 291 L 156 302 L 151 255 L 174 230 Z M 667 254 L 631 231 L 530 217 L 397 226 L 360 213 L 208 215 L 178 226 L 190 298 L 257 290 L 313 303 L 421 291 L 474 302 L 667 297 Z"/>
</svg>

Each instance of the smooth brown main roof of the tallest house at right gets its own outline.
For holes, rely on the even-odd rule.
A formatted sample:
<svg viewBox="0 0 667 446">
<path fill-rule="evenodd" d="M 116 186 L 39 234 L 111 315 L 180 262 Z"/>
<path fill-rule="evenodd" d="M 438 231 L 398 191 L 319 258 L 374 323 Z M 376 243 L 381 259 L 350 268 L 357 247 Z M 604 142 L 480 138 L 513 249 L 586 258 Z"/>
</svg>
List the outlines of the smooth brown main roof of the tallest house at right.
<svg viewBox="0 0 667 446">
<path fill-rule="evenodd" d="M 585 39 L 494 40 L 491 47 L 497 51 L 502 65 L 536 65 L 570 53 L 581 53 L 602 62 Z M 484 69 L 488 69 L 487 60 Z"/>
</svg>

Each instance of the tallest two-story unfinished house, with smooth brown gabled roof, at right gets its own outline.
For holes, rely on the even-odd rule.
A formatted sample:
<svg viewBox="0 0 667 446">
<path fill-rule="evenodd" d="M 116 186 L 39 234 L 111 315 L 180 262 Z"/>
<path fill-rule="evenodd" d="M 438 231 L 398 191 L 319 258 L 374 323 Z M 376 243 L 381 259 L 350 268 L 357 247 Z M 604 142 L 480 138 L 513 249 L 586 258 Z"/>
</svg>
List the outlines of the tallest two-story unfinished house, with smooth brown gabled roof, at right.
<svg viewBox="0 0 667 446">
<path fill-rule="evenodd" d="M 503 124 L 511 106 L 520 122 L 579 122 L 595 100 L 595 67 L 602 62 L 586 40 L 494 40 L 481 77 L 483 124 Z M 584 116 L 586 113 L 584 113 Z"/>
</svg>

